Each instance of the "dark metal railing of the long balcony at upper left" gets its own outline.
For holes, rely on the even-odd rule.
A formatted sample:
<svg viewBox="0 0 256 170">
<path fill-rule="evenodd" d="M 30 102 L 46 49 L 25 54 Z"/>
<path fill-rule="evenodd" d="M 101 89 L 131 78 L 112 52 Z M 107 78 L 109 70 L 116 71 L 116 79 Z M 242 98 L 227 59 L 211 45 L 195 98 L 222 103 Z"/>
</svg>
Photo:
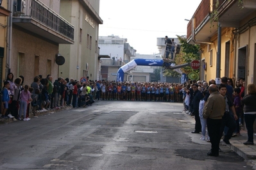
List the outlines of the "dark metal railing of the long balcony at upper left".
<svg viewBox="0 0 256 170">
<path fill-rule="evenodd" d="M 27 19 L 32 18 L 53 29 L 60 35 L 74 40 L 74 26 L 55 13 L 51 8 L 37 0 L 25 0 L 26 7 L 18 2 L 14 4 L 13 17 Z"/>
</svg>

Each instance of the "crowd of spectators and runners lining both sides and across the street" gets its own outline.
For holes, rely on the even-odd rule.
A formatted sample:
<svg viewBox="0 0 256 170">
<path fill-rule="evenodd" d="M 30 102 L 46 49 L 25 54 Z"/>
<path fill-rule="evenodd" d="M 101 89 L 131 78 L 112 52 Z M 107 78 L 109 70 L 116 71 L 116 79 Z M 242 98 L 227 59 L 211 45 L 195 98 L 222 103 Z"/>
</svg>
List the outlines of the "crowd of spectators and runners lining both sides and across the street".
<svg viewBox="0 0 256 170">
<path fill-rule="evenodd" d="M 8 83 L 12 82 L 13 74 L 8 74 Z M 31 84 L 31 97 L 29 100 L 26 100 L 26 107 L 28 108 L 31 101 L 31 112 L 33 116 L 37 116 L 37 112 L 48 111 L 51 109 L 60 109 L 61 107 L 67 107 L 72 105 L 74 108 L 78 107 L 89 107 L 96 100 L 130 100 L 130 101 L 148 101 L 148 102 L 182 102 L 184 104 L 184 111 L 189 113 L 195 118 L 195 129 L 193 133 L 201 132 L 201 140 L 203 141 L 212 141 L 209 139 L 210 134 L 207 134 L 208 119 L 203 118 L 203 109 L 206 107 L 206 103 L 210 96 L 210 90 L 208 83 L 205 81 L 191 81 L 185 82 L 184 84 L 180 83 L 171 83 L 171 82 L 115 82 L 115 81 L 87 81 L 79 82 L 74 79 L 63 79 L 58 77 L 53 83 L 53 77 L 47 75 L 46 78 L 40 78 L 36 76 L 34 81 Z M 230 79 L 223 77 L 221 81 L 224 84 L 219 85 L 221 88 L 226 88 L 228 86 L 229 91 L 233 91 L 233 88 L 230 86 Z M 12 98 L 12 104 L 15 107 L 10 109 L 10 112 L 3 112 L 2 119 L 5 118 L 15 118 L 22 120 L 29 120 L 28 115 L 24 114 L 24 97 L 22 97 L 22 102 L 20 101 L 19 93 L 21 93 L 21 88 L 25 88 L 22 91 L 22 95 L 26 91 L 28 86 L 21 86 L 22 79 L 21 77 L 15 79 L 13 82 L 13 93 L 11 93 L 10 87 L 7 87 L 6 90 L 9 91 L 9 98 Z M 215 84 L 215 81 L 212 79 L 209 81 L 209 85 Z M 243 112 L 239 111 L 239 108 L 243 107 L 239 104 L 241 99 L 241 89 L 245 85 L 244 79 L 237 81 L 235 85 L 238 87 L 234 89 L 234 94 L 231 94 L 233 98 L 227 103 L 229 105 L 225 108 L 225 115 L 229 115 L 236 123 L 234 126 L 229 126 L 228 123 L 223 123 L 227 125 L 224 130 L 224 139 L 223 141 L 226 144 L 229 143 L 231 135 L 239 135 L 240 125 L 243 123 L 241 117 Z M 6 85 L 7 86 L 7 85 Z M 41 87 L 42 86 L 42 87 Z M 81 88 L 79 88 L 81 87 Z M 230 88 L 231 87 L 231 88 Z M 70 89 L 71 88 L 71 89 Z M 201 90 L 199 91 L 198 88 Z M 221 88 L 219 93 L 221 93 Z M 227 88 L 226 88 L 227 89 Z M 225 90 L 224 90 L 225 91 Z M 231 91 L 231 92 L 232 92 Z M 243 89 L 244 91 L 244 89 Z M 29 92 L 29 91 L 28 91 Z M 191 99 L 192 98 L 192 99 Z M 224 98 L 224 97 L 223 97 Z M 247 98 L 247 96 L 246 96 Z M 234 103 L 233 103 L 234 101 Z M 7 101 L 6 101 L 7 102 Z M 8 103 L 8 102 L 7 102 Z M 19 104 L 22 104 L 21 109 L 19 109 Z M 29 103 L 29 104 L 28 104 Z M 205 103 L 205 104 L 204 104 Z M 234 104 L 234 106 L 231 106 Z M 40 108 L 38 108 L 38 106 Z M 6 105 L 6 111 L 10 106 Z M 234 107 L 234 111 L 232 109 Z M 20 110 L 20 116 L 18 116 L 18 111 Z M 28 109 L 29 111 L 29 109 Z M 246 110 L 247 111 L 247 110 Z M 227 114 L 227 112 L 229 112 Z M 7 114 L 8 113 L 8 114 Z M 246 117 L 251 116 L 248 111 L 246 112 Z M 23 115 L 23 117 L 22 117 Z M 233 116 L 233 117 L 232 117 Z M 239 116 L 240 119 L 237 119 Z M 226 118 L 221 119 L 224 122 L 227 122 Z M 231 120 L 230 120 L 231 121 Z M 248 118 L 246 119 L 248 122 Z M 231 123 L 232 124 L 232 123 Z M 247 123 L 250 128 L 250 123 Z M 252 123 L 251 123 L 252 124 Z M 232 124 L 233 125 L 233 124 Z M 246 125 L 247 126 L 247 125 Z M 225 127 L 225 126 L 224 126 Z M 209 128 L 209 127 L 208 127 Z M 219 140 L 222 135 L 223 125 L 219 129 Z M 208 130 L 210 133 L 210 130 Z M 234 133 L 233 133 L 234 132 Z M 250 132 L 251 133 L 251 132 Z M 231 135 L 230 135 L 231 134 Z M 249 135 L 249 134 L 248 134 Z M 215 137 L 215 135 L 212 135 Z M 216 139 L 217 140 L 217 139 Z M 218 140 L 217 140 L 218 141 Z M 216 143 L 216 141 L 215 141 Z M 252 144 L 252 137 L 248 137 L 248 143 Z M 214 153 L 215 154 L 215 153 Z M 213 154 L 213 155 L 214 155 Z M 216 154 L 217 155 L 217 154 Z"/>
</svg>

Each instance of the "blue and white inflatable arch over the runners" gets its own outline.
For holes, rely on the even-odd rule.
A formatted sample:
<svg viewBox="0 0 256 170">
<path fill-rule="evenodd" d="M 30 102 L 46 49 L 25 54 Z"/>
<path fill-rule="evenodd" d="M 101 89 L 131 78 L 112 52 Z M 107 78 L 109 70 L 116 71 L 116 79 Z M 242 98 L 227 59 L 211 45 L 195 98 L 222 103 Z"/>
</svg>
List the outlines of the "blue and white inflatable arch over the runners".
<svg viewBox="0 0 256 170">
<path fill-rule="evenodd" d="M 136 66 L 162 66 L 164 61 L 162 59 L 133 59 L 126 65 L 121 66 L 117 71 L 117 82 L 124 81 L 124 73 L 132 70 Z"/>
</svg>

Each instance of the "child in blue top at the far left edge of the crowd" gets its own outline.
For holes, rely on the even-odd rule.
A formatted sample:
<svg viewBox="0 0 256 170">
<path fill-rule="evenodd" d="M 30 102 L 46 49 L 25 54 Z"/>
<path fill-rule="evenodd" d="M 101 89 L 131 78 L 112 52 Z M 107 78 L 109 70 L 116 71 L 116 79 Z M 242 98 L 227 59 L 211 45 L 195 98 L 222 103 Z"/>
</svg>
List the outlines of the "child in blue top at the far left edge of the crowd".
<svg viewBox="0 0 256 170">
<path fill-rule="evenodd" d="M 4 109 L 2 112 L 2 116 L 1 119 L 7 119 L 8 117 L 5 116 L 5 113 L 7 111 L 7 109 L 9 108 L 9 102 L 10 102 L 10 94 L 8 92 L 8 89 L 10 88 L 10 82 L 5 81 L 4 82 L 4 88 L 3 88 L 3 96 L 2 96 L 2 102 L 4 105 Z"/>
</svg>

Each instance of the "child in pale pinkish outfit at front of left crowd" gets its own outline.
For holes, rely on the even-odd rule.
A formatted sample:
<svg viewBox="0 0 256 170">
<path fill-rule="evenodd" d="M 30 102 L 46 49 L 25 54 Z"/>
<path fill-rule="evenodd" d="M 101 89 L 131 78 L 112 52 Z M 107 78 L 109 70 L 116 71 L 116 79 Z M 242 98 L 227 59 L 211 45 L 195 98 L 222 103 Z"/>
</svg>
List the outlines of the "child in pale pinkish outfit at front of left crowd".
<svg viewBox="0 0 256 170">
<path fill-rule="evenodd" d="M 28 102 L 31 101 L 30 91 L 28 91 L 28 88 L 28 85 L 25 85 L 24 89 L 21 91 L 21 107 L 19 109 L 19 120 L 21 120 L 21 114 L 23 114 L 24 121 L 30 120 L 26 118 Z"/>
</svg>

